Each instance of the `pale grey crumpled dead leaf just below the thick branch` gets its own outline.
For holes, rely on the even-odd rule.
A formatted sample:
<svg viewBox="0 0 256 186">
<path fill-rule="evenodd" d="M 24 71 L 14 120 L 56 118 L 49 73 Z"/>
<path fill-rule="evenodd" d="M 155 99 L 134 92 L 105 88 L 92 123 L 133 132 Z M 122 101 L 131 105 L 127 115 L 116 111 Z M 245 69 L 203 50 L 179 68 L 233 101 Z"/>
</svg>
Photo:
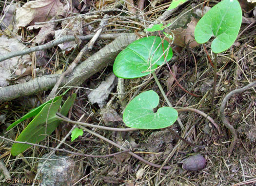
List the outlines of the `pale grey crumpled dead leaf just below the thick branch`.
<svg viewBox="0 0 256 186">
<path fill-rule="evenodd" d="M 100 83 L 97 89 L 89 93 L 89 101 L 92 104 L 98 103 L 98 106 L 102 108 L 106 104 L 109 93 L 114 89 L 115 86 L 117 86 L 117 84 L 118 78 L 112 73 L 106 78 L 106 81 Z"/>
</svg>

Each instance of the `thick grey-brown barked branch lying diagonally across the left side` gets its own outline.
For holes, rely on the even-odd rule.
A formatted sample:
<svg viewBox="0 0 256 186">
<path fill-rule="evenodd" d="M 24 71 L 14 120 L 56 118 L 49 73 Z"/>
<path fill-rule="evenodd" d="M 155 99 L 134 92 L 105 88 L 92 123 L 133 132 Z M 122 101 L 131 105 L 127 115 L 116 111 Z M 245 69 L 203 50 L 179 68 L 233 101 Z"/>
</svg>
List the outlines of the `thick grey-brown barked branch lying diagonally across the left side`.
<svg viewBox="0 0 256 186">
<path fill-rule="evenodd" d="M 68 86 L 79 86 L 80 83 L 91 75 L 103 69 L 110 62 L 113 62 L 118 53 L 137 38 L 135 34 L 122 34 L 120 37 L 117 37 L 113 42 L 79 64 L 69 77 L 63 79 L 60 86 L 64 86 L 66 83 L 68 83 Z M 22 84 L 1 88 L 0 102 L 52 89 L 59 77 L 59 74 L 44 75 Z"/>
</svg>

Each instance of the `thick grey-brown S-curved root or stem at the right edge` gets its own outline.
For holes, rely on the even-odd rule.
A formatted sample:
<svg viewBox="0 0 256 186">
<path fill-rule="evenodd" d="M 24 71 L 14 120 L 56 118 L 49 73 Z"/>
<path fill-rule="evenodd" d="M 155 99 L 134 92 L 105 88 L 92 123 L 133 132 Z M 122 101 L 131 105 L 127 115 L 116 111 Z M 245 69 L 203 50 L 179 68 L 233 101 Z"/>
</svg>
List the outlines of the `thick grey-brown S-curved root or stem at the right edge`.
<svg viewBox="0 0 256 186">
<path fill-rule="evenodd" d="M 223 124 L 225 125 L 226 128 L 228 128 L 228 129 L 230 130 L 230 132 L 233 134 L 233 137 L 234 137 L 233 141 L 232 141 L 231 144 L 230 144 L 228 156 L 231 155 L 231 153 L 232 153 L 232 151 L 233 151 L 233 149 L 234 149 L 234 146 L 235 146 L 236 141 L 237 141 L 237 134 L 236 134 L 236 130 L 234 129 L 234 127 L 233 127 L 232 125 L 230 125 L 229 120 L 225 117 L 225 113 L 224 113 L 225 106 L 226 106 L 226 104 L 227 104 L 227 101 L 229 100 L 229 98 L 230 98 L 232 95 L 234 95 L 235 93 L 241 93 L 241 92 L 243 92 L 243 91 L 245 91 L 245 90 L 247 90 L 247 89 L 250 89 L 250 88 L 252 88 L 252 87 L 254 87 L 254 86 L 256 86 L 256 81 L 253 81 L 253 82 L 251 82 L 249 85 L 246 85 L 246 86 L 244 86 L 244 87 L 242 87 L 242 88 L 240 88 L 240 89 L 236 89 L 236 90 L 234 90 L 234 91 L 231 91 L 230 93 L 228 93 L 228 94 L 224 97 L 224 99 L 223 99 L 223 101 L 222 101 L 222 103 L 221 103 L 221 106 L 220 106 L 220 108 L 219 108 L 219 115 L 220 115 L 220 118 L 221 118 Z"/>
</svg>

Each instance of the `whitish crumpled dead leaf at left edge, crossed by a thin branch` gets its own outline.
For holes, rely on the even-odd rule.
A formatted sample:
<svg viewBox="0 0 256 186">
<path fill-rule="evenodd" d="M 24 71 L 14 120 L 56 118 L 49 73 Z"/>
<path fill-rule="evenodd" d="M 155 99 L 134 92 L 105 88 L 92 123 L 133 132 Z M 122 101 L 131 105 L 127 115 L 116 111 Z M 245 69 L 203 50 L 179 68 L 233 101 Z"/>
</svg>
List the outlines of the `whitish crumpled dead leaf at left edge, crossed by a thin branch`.
<svg viewBox="0 0 256 186">
<path fill-rule="evenodd" d="M 23 50 L 25 46 L 20 43 L 16 38 L 8 39 L 6 36 L 2 35 L 0 37 L 0 56 L 4 56 L 10 52 Z M 29 55 L 24 55 L 20 60 L 20 56 L 12 57 L 0 62 L 0 87 L 5 87 L 9 84 L 7 79 L 11 79 L 14 71 L 18 68 L 19 63 L 22 61 L 30 59 Z"/>
</svg>

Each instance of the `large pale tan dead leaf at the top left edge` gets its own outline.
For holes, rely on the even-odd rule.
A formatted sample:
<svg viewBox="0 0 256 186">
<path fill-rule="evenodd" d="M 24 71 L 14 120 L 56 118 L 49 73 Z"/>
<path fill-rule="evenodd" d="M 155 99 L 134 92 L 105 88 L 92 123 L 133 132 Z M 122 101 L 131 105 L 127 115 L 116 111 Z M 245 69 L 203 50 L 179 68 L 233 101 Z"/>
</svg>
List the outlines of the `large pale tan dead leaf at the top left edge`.
<svg viewBox="0 0 256 186">
<path fill-rule="evenodd" d="M 63 8 L 59 0 L 33 0 L 16 10 L 17 27 L 34 25 L 35 22 L 48 21 Z M 37 28 L 42 25 L 37 25 Z M 35 27 L 31 27 L 35 28 Z"/>
</svg>

